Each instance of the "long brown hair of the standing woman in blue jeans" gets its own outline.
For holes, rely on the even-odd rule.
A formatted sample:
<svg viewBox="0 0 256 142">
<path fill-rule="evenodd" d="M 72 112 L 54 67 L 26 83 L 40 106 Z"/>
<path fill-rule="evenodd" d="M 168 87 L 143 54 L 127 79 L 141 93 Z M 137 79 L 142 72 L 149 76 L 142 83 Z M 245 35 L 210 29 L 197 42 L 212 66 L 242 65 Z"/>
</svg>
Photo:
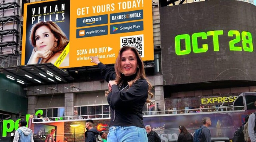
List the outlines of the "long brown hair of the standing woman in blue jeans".
<svg viewBox="0 0 256 142">
<path fill-rule="evenodd" d="M 127 51 L 127 50 L 131 50 L 131 51 L 134 52 L 134 54 L 136 56 L 136 59 L 137 59 L 137 64 L 138 64 L 137 75 L 136 75 L 135 79 L 128 82 L 129 88 L 138 79 L 140 79 L 140 78 L 145 79 L 147 81 L 148 85 L 149 85 L 148 99 L 146 100 L 146 102 L 149 103 L 150 99 L 153 98 L 153 93 L 151 93 L 152 86 L 151 86 L 149 80 L 146 78 L 144 64 L 143 64 L 143 61 L 141 59 L 141 56 L 139 55 L 138 51 L 134 47 L 124 46 L 119 50 L 118 56 L 115 60 L 115 73 L 116 73 L 115 81 L 117 82 L 118 85 L 121 85 L 121 83 L 122 83 L 121 74 L 123 74 L 123 72 L 122 72 L 122 67 L 121 67 L 121 55 L 124 51 Z M 108 95 L 108 94 L 109 94 L 109 91 L 106 91 L 105 95 Z"/>
</svg>

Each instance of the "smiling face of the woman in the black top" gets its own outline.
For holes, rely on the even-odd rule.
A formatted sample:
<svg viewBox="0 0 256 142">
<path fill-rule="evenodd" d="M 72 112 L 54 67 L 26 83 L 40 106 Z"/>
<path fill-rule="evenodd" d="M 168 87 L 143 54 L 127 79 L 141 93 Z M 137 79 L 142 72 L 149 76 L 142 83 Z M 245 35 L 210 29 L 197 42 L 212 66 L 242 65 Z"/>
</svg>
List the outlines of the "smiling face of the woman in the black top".
<svg viewBox="0 0 256 142">
<path fill-rule="evenodd" d="M 121 68 L 125 76 L 135 74 L 137 65 L 137 58 L 132 50 L 126 50 L 121 54 Z"/>
</svg>

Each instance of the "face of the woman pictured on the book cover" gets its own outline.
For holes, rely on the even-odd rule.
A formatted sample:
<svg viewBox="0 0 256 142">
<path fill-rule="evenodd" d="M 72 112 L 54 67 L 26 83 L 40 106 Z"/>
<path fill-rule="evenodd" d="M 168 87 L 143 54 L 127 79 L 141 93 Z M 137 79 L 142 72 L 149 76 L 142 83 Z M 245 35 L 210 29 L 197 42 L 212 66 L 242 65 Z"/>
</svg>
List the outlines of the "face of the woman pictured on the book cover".
<svg viewBox="0 0 256 142">
<path fill-rule="evenodd" d="M 35 31 L 35 43 L 37 50 L 52 50 L 54 48 L 54 41 L 57 41 L 57 38 L 55 38 L 48 27 L 41 26 Z"/>
</svg>

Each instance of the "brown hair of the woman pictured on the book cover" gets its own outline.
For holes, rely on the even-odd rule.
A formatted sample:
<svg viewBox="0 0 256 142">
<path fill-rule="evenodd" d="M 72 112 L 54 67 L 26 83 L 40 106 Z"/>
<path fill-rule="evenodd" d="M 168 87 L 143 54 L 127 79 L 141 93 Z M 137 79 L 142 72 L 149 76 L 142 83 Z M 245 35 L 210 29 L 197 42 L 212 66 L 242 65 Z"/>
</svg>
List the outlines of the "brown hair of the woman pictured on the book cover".
<svg viewBox="0 0 256 142">
<path fill-rule="evenodd" d="M 55 36 L 55 38 L 58 39 L 56 47 L 54 47 L 54 49 L 52 50 L 53 54 L 46 59 L 47 62 L 55 53 L 63 51 L 65 47 L 68 45 L 69 40 L 57 24 L 51 21 L 41 21 L 39 23 L 34 24 L 31 28 L 29 39 L 32 46 L 36 47 L 35 32 L 38 28 L 42 26 L 46 26 L 47 28 L 49 28 L 51 30 L 51 33 L 53 33 L 53 35 Z"/>
</svg>

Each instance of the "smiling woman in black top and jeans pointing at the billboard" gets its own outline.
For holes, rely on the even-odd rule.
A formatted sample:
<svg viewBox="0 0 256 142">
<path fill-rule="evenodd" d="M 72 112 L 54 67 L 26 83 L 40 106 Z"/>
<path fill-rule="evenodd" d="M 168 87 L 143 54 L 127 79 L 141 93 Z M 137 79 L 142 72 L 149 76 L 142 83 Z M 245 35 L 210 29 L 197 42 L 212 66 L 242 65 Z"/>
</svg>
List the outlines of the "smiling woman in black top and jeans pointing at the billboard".
<svg viewBox="0 0 256 142">
<path fill-rule="evenodd" d="M 115 62 L 115 71 L 102 64 L 98 57 L 90 57 L 91 62 L 98 64 L 108 82 L 106 95 L 111 118 L 107 141 L 148 142 L 142 110 L 153 94 L 137 50 L 134 47 L 122 47 Z"/>
</svg>

